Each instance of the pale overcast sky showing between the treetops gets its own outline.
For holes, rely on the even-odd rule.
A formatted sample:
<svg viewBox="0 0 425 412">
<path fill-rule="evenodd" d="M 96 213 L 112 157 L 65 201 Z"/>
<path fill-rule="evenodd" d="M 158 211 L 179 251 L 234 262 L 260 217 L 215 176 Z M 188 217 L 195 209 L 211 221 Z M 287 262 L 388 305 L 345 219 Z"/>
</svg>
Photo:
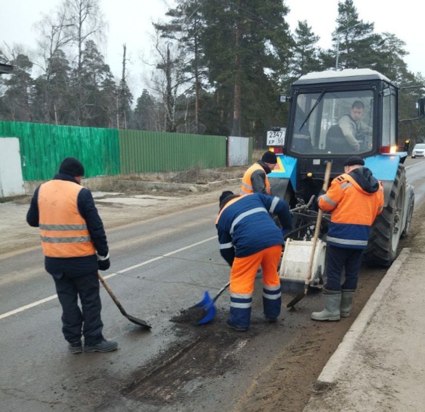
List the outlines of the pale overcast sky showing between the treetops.
<svg viewBox="0 0 425 412">
<path fill-rule="evenodd" d="M 208 0 L 207 0 L 208 1 Z M 245 0 L 244 0 L 245 1 Z M 41 14 L 48 14 L 61 0 L 10 0 L 1 1 L 0 42 L 9 46 L 23 45 L 35 49 L 34 23 Z M 243 1 L 242 1 L 243 3 Z M 338 14 L 338 0 L 286 0 L 291 11 L 287 21 L 291 31 L 299 20 L 306 20 L 313 32 L 320 37 L 318 45 L 328 49 L 332 45 Z M 101 51 L 106 56 L 114 76 L 120 76 L 123 43 L 127 45 L 130 63 L 130 87 L 141 89 L 141 55 L 149 56 L 152 21 L 162 19 L 173 0 L 101 0 L 101 8 L 108 23 L 108 43 Z M 404 0 L 393 8 L 385 0 L 354 0 L 359 19 L 375 23 L 375 32 L 391 32 L 406 43 L 409 55 L 405 61 L 409 70 L 425 75 L 425 47 L 423 19 L 425 6 L 420 0 Z M 137 93 L 138 94 L 138 93 Z M 136 96 L 137 97 L 137 96 Z"/>
</svg>

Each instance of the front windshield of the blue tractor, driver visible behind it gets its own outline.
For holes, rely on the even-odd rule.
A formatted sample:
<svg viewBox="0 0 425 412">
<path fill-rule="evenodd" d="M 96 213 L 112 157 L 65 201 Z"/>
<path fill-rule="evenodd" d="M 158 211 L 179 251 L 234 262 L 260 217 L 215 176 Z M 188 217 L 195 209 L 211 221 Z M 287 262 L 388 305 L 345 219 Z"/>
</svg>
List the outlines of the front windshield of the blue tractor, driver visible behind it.
<svg viewBox="0 0 425 412">
<path fill-rule="evenodd" d="M 298 93 L 288 143 L 304 155 L 352 155 L 372 149 L 374 92 L 318 91 Z"/>
</svg>

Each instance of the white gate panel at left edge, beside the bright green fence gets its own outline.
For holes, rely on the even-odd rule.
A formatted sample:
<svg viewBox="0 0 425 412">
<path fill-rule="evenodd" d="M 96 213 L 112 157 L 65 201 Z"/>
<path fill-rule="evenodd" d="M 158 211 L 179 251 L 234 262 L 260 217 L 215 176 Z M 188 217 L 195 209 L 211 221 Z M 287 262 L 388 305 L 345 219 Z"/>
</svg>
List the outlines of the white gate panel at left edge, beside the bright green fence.
<svg viewBox="0 0 425 412">
<path fill-rule="evenodd" d="M 0 137 L 0 197 L 25 194 L 19 139 Z"/>
</svg>

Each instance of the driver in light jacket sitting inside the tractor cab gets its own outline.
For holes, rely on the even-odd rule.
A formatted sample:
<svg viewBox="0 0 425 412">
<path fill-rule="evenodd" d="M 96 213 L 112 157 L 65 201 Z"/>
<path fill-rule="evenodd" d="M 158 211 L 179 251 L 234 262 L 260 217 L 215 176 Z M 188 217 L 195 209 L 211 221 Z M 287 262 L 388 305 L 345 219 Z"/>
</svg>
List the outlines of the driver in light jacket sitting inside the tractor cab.
<svg viewBox="0 0 425 412">
<path fill-rule="evenodd" d="M 367 126 L 362 121 L 364 109 L 365 104 L 356 100 L 351 106 L 350 114 L 343 115 L 338 121 L 338 126 L 341 128 L 345 140 L 354 152 L 361 150 L 360 144 L 364 135 L 372 136 L 372 127 Z"/>
</svg>

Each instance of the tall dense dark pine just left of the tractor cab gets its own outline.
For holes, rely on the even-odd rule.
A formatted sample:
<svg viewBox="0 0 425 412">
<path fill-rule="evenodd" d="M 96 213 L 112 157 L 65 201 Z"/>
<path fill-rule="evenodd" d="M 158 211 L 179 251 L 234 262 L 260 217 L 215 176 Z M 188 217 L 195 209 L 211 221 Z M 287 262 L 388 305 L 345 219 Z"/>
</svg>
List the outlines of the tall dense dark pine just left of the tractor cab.
<svg viewBox="0 0 425 412">
<path fill-rule="evenodd" d="M 281 0 L 208 0 L 201 38 L 208 80 L 215 87 L 217 121 L 232 135 L 264 134 L 276 112 L 292 38 Z"/>
</svg>

